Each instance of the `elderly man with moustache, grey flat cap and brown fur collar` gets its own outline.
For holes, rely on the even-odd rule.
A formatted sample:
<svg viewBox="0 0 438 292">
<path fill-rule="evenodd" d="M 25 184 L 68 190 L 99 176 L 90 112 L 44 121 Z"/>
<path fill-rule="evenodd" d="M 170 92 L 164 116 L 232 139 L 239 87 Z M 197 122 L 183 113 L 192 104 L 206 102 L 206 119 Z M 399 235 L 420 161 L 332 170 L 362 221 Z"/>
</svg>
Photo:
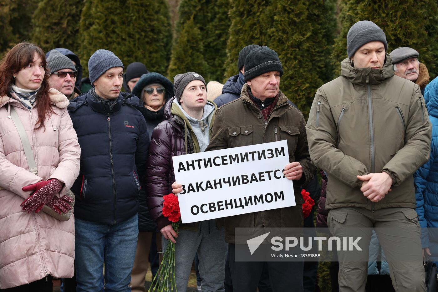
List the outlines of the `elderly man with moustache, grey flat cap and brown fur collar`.
<svg viewBox="0 0 438 292">
<path fill-rule="evenodd" d="M 426 65 L 418 61 L 419 54 L 413 48 L 404 46 L 393 50 L 390 53 L 394 74 L 415 82 L 420 86 L 421 94 L 424 95 L 424 88 L 429 83 L 429 71 Z"/>
</svg>

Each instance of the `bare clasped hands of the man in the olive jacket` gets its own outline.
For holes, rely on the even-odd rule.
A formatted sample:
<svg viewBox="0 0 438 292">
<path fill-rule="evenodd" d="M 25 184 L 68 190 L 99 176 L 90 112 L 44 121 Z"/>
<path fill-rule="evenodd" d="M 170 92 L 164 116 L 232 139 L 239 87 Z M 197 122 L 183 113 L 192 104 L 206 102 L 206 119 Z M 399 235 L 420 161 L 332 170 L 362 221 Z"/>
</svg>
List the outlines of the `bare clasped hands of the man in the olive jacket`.
<svg viewBox="0 0 438 292">
<path fill-rule="evenodd" d="M 386 172 L 358 175 L 357 178 L 362 181 L 360 191 L 371 202 L 377 203 L 391 192 L 392 178 Z"/>
</svg>

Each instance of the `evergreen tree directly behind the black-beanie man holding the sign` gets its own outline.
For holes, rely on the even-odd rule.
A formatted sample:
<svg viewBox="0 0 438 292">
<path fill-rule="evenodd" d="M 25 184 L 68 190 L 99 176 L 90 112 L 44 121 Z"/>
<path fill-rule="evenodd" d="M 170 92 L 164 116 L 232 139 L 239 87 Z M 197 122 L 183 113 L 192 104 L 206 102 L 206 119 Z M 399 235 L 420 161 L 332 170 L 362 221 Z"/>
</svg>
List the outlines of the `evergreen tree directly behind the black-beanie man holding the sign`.
<svg viewBox="0 0 438 292">
<path fill-rule="evenodd" d="M 258 44 L 276 50 L 284 71 L 280 90 L 307 118 L 316 90 L 332 78 L 334 2 L 233 1 L 226 77 L 237 74 L 237 59 L 244 46 Z"/>
</svg>

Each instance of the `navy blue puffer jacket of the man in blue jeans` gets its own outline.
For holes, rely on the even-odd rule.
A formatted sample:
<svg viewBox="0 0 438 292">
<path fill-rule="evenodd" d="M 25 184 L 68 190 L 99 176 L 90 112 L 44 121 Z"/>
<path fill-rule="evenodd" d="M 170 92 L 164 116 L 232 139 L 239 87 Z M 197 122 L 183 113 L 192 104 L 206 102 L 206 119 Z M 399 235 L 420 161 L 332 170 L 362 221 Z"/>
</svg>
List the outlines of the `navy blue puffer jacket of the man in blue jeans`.
<svg viewBox="0 0 438 292">
<path fill-rule="evenodd" d="M 81 146 L 81 169 L 71 188 L 75 217 L 116 224 L 137 214 L 149 146 L 145 118 L 131 105 L 139 102 L 123 93 L 109 110 L 85 93 L 68 106 Z"/>
</svg>

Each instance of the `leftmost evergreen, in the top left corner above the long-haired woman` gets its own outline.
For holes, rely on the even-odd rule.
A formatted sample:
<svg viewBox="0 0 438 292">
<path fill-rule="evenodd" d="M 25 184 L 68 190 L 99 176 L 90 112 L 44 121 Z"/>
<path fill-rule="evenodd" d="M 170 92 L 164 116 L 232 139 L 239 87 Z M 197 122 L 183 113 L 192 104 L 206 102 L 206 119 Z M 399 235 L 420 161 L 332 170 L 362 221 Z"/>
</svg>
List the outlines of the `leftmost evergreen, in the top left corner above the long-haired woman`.
<svg viewBox="0 0 438 292">
<path fill-rule="evenodd" d="M 0 1 L 0 58 L 31 36 L 29 22 L 38 0 Z"/>
</svg>

